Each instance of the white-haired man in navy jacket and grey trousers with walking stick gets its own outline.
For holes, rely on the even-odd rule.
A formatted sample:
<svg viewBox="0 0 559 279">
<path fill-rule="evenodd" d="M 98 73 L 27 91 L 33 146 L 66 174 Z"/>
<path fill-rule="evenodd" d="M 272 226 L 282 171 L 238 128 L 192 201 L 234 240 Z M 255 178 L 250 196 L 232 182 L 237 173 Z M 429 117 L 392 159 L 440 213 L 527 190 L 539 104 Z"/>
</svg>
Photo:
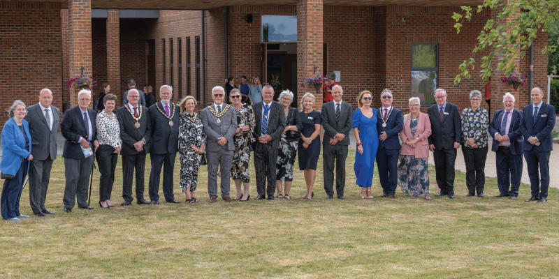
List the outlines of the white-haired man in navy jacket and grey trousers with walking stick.
<svg viewBox="0 0 559 279">
<path fill-rule="evenodd" d="M 93 209 L 87 203 L 87 184 L 92 173 L 93 154 L 99 147 L 99 142 L 95 125 L 97 113 L 87 108 L 91 98 L 91 91 L 82 89 L 78 93 L 78 106 L 64 112 L 60 123 L 62 136 L 66 139 L 62 157 L 66 176 L 64 211 L 68 213 L 72 212 L 75 199 L 78 199 L 78 208 Z M 89 153 L 84 149 L 90 149 Z"/>
</svg>

